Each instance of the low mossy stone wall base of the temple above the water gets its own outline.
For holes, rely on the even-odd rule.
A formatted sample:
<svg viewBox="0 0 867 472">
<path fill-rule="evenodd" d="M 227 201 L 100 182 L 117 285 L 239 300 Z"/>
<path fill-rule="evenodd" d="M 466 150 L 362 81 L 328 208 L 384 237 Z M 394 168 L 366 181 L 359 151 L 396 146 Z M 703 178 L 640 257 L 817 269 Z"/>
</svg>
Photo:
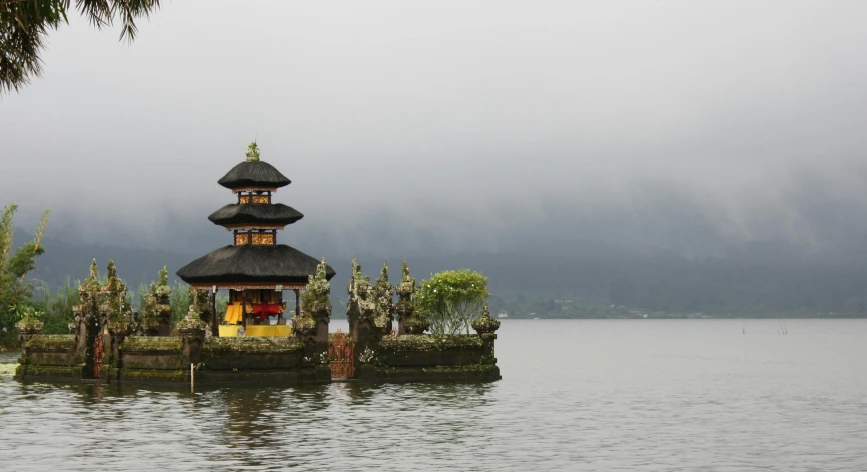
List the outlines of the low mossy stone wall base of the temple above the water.
<svg viewBox="0 0 867 472">
<path fill-rule="evenodd" d="M 103 334 L 110 346 L 96 362 L 77 353 L 75 335 L 29 335 L 16 378 L 24 381 L 187 386 L 297 385 L 353 379 L 368 382 L 501 379 L 492 335 L 384 336 L 349 354 L 352 366 L 332 379 L 328 353 L 296 337 L 205 338 Z M 192 372 L 191 372 L 192 366 Z M 191 379 L 191 375 L 194 379 Z"/>
</svg>

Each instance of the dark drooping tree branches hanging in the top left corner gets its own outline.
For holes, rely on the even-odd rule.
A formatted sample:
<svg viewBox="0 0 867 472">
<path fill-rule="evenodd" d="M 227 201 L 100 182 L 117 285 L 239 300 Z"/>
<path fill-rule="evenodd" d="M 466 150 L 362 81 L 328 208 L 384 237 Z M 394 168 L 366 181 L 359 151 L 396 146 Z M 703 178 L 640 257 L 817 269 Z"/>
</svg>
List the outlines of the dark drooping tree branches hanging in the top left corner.
<svg viewBox="0 0 867 472">
<path fill-rule="evenodd" d="M 160 0 L 76 0 L 75 10 L 97 29 L 121 23 L 120 40 L 133 41 L 135 22 Z M 71 0 L 0 0 L 0 93 L 18 91 L 42 75 L 40 54 L 48 33 L 69 23 Z"/>
</svg>

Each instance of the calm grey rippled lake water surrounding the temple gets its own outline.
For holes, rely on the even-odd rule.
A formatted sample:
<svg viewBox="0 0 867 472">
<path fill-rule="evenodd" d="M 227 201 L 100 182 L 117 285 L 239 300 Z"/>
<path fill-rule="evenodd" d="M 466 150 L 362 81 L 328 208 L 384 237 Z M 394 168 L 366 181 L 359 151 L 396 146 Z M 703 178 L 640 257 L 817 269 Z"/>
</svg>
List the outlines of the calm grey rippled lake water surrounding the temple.
<svg viewBox="0 0 867 472">
<path fill-rule="evenodd" d="M 491 384 L 191 396 L 6 368 L 0 469 L 867 470 L 867 320 L 744 324 L 508 320 Z"/>
</svg>

